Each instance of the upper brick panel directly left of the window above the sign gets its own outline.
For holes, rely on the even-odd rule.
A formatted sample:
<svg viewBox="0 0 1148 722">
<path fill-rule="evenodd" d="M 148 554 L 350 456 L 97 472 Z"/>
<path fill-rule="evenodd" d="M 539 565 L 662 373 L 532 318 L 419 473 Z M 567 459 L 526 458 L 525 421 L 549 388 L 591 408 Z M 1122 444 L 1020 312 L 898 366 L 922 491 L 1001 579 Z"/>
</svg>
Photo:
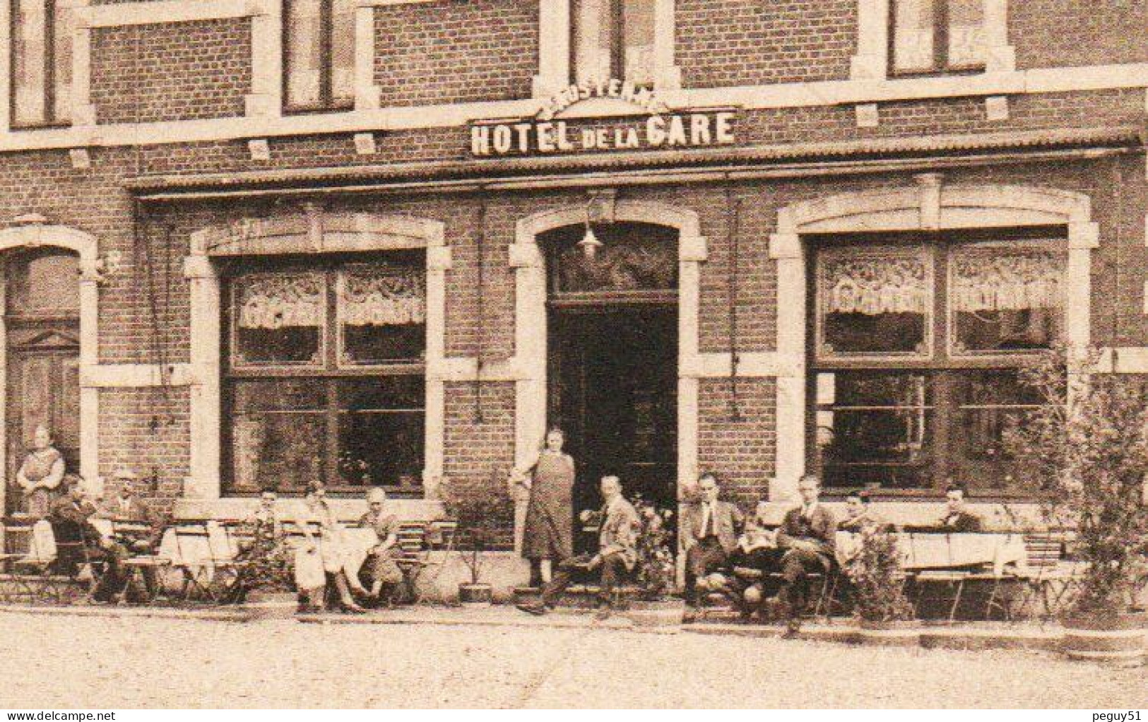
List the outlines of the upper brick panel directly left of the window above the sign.
<svg viewBox="0 0 1148 722">
<path fill-rule="evenodd" d="M 383 106 L 530 96 L 538 3 L 439 0 L 375 8 L 375 84 Z"/>
</svg>

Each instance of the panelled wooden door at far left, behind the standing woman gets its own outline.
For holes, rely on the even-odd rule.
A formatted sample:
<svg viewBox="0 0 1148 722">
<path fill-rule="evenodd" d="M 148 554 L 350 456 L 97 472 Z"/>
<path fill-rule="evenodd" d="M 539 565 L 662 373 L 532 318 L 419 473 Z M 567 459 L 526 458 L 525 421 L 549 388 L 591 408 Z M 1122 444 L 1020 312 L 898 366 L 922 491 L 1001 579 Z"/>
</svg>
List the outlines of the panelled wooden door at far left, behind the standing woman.
<svg viewBox="0 0 1148 722">
<path fill-rule="evenodd" d="M 60 249 L 13 253 L 2 258 L 6 332 L 6 479 L 45 426 L 69 472 L 79 467 L 78 257 Z M 23 511 L 9 486 L 5 513 Z"/>
</svg>

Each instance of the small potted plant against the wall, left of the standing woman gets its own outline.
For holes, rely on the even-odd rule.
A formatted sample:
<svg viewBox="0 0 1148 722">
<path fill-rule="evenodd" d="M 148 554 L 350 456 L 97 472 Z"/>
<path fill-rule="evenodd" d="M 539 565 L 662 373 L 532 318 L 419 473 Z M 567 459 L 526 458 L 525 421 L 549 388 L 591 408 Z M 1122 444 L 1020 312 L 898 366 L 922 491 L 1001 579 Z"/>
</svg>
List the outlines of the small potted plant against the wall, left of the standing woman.
<svg viewBox="0 0 1148 722">
<path fill-rule="evenodd" d="M 470 582 L 458 585 L 458 600 L 464 606 L 490 606 L 494 598 L 491 585 L 482 581 L 482 569 L 486 553 L 497 546 L 509 523 L 510 498 L 499 481 L 503 476 L 492 474 L 482 486 L 444 479 L 440 487 L 447 513 L 458 522 L 456 543 L 470 573 Z"/>
</svg>

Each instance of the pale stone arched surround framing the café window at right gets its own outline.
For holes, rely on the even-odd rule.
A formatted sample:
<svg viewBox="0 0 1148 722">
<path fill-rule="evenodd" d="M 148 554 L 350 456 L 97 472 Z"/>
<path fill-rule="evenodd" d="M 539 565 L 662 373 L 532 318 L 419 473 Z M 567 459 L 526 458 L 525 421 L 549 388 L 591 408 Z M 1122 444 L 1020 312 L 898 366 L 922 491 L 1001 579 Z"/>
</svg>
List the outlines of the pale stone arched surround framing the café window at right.
<svg viewBox="0 0 1148 722">
<path fill-rule="evenodd" d="M 1064 226 L 1066 341 L 1078 349 L 1091 341 L 1092 250 L 1099 246 L 1100 231 L 1087 195 L 1037 186 L 948 185 L 940 173 L 923 173 L 915 181 L 902 188 L 801 201 L 777 214 L 769 255 L 777 262 L 777 298 L 788 300 L 777 303 L 777 352 L 791 363 L 777 379 L 777 459 L 770 500 L 793 496 L 805 472 L 808 269 L 802 234 Z"/>
</svg>

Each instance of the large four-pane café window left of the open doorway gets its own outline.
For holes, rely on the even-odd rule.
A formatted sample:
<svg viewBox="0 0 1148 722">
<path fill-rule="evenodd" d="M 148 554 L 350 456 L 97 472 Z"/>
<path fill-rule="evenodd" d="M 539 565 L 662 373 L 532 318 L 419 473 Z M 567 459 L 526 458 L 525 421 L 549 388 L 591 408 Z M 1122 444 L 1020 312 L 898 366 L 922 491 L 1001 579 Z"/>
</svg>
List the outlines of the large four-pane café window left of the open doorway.
<svg viewBox="0 0 1148 722">
<path fill-rule="evenodd" d="M 424 448 L 421 251 L 245 263 L 227 284 L 230 491 L 416 494 Z"/>
</svg>

